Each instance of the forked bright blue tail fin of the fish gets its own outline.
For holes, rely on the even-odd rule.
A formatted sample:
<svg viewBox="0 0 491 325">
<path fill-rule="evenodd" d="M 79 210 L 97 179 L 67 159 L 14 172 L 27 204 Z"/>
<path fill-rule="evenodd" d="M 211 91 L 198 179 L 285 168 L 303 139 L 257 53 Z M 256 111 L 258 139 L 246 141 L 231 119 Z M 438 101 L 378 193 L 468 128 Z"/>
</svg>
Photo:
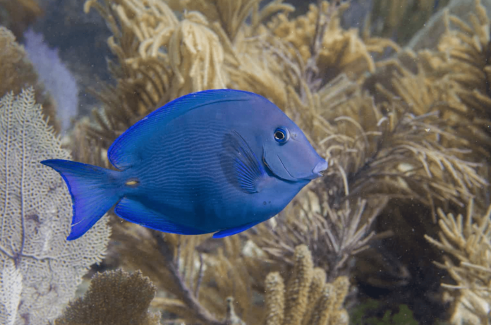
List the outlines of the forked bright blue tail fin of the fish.
<svg viewBox="0 0 491 325">
<path fill-rule="evenodd" d="M 70 191 L 73 218 L 67 240 L 86 233 L 121 199 L 117 171 L 61 159 L 44 160 L 41 164 L 59 172 Z"/>
</svg>

